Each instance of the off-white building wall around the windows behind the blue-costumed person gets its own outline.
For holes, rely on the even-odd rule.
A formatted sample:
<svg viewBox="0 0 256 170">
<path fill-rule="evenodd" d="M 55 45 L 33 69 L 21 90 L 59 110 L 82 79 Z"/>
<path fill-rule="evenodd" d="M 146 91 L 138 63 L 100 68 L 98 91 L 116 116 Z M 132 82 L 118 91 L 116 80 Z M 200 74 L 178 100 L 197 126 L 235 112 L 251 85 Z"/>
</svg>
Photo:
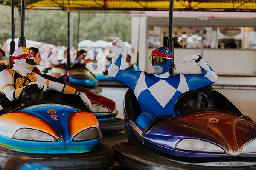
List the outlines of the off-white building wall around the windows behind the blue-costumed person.
<svg viewBox="0 0 256 170">
<path fill-rule="evenodd" d="M 181 23 L 186 25 L 186 20 L 179 19 L 176 21 L 177 25 Z M 255 22 L 248 22 L 246 20 L 240 20 L 240 23 L 235 22 L 235 20 L 228 20 L 230 23 L 238 24 L 239 26 L 253 26 Z M 254 20 L 253 20 L 254 21 Z M 148 22 L 148 23 L 147 23 Z M 179 23 L 180 22 L 180 23 Z M 218 20 L 211 21 L 201 21 L 200 24 L 213 24 L 218 26 Z M 224 26 L 225 21 L 221 21 L 222 26 Z M 148 49 L 147 44 L 147 33 L 149 26 L 166 26 L 168 24 L 168 18 L 150 18 L 145 15 L 141 16 L 132 16 L 131 17 L 131 45 L 134 47 L 134 58 L 137 59 L 137 49 L 139 48 L 139 67 L 142 71 L 147 71 L 152 73 L 152 66 L 148 60 L 148 57 L 151 55 L 153 49 Z M 194 20 L 188 22 L 190 26 L 195 24 Z M 140 30 L 140 31 L 139 31 Z M 138 39 L 139 37 L 139 39 Z M 139 46 L 138 46 L 139 43 Z M 174 74 L 178 73 L 200 73 L 198 65 L 195 63 L 188 63 L 183 65 L 183 63 L 176 63 L 183 54 L 201 54 L 201 49 L 186 49 L 186 48 L 174 48 L 174 59 L 175 66 L 177 70 L 174 70 Z M 231 50 L 231 49 L 204 49 L 203 58 L 218 75 L 236 75 L 236 76 L 256 76 L 256 50 Z"/>
</svg>

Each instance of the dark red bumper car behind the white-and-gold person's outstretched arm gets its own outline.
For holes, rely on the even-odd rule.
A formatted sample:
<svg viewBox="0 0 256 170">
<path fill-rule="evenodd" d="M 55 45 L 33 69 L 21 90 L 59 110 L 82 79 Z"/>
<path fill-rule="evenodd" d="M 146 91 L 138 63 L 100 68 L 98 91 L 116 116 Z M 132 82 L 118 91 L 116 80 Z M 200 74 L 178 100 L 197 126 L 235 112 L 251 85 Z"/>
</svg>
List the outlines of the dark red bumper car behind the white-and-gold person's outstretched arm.
<svg viewBox="0 0 256 170">
<path fill-rule="evenodd" d="M 46 79 L 64 84 L 68 84 L 69 82 L 67 75 L 62 75 L 59 78 L 47 74 L 40 75 Z M 99 128 L 102 133 L 114 133 L 124 130 L 124 120 L 116 117 L 118 115 L 116 102 L 102 95 L 93 93 L 93 91 L 90 91 L 88 88 L 81 86 L 73 86 L 73 88 L 83 91 L 92 102 L 91 111 L 98 119 Z"/>
</svg>

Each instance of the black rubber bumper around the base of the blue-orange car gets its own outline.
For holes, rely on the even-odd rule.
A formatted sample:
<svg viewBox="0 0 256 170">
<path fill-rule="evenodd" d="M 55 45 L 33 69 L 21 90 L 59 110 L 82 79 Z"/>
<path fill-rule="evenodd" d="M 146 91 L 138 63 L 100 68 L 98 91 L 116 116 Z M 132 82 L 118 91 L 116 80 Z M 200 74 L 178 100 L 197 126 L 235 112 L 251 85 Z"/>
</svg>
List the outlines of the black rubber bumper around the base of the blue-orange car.
<svg viewBox="0 0 256 170">
<path fill-rule="evenodd" d="M 105 144 L 99 144 L 90 153 L 58 155 L 18 153 L 0 149 L 0 164 L 3 166 L 7 159 L 20 156 L 26 156 L 30 161 L 47 165 L 54 170 L 105 170 L 115 162 L 114 151 Z"/>
</svg>

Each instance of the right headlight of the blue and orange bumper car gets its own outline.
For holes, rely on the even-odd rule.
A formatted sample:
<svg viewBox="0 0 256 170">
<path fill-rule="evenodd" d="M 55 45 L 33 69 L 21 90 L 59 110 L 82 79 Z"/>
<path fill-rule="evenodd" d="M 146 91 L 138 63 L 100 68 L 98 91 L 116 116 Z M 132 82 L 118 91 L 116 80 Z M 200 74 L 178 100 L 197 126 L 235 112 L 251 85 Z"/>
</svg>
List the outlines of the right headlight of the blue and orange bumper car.
<svg viewBox="0 0 256 170">
<path fill-rule="evenodd" d="M 86 141 L 91 139 L 97 139 L 100 137 L 99 130 L 96 127 L 90 127 L 88 129 L 82 130 L 81 132 L 77 133 L 73 137 L 73 142 L 76 141 Z"/>
</svg>

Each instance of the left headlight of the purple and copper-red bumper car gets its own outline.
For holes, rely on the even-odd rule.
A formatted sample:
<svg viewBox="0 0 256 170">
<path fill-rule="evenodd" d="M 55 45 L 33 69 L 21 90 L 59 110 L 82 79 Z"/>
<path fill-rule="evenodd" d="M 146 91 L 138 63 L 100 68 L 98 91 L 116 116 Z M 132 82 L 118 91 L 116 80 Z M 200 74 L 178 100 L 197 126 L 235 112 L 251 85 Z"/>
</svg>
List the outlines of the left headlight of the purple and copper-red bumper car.
<svg viewBox="0 0 256 170">
<path fill-rule="evenodd" d="M 194 152 L 225 153 L 225 150 L 213 143 L 198 139 L 182 139 L 175 146 L 176 149 L 190 150 Z"/>
</svg>

